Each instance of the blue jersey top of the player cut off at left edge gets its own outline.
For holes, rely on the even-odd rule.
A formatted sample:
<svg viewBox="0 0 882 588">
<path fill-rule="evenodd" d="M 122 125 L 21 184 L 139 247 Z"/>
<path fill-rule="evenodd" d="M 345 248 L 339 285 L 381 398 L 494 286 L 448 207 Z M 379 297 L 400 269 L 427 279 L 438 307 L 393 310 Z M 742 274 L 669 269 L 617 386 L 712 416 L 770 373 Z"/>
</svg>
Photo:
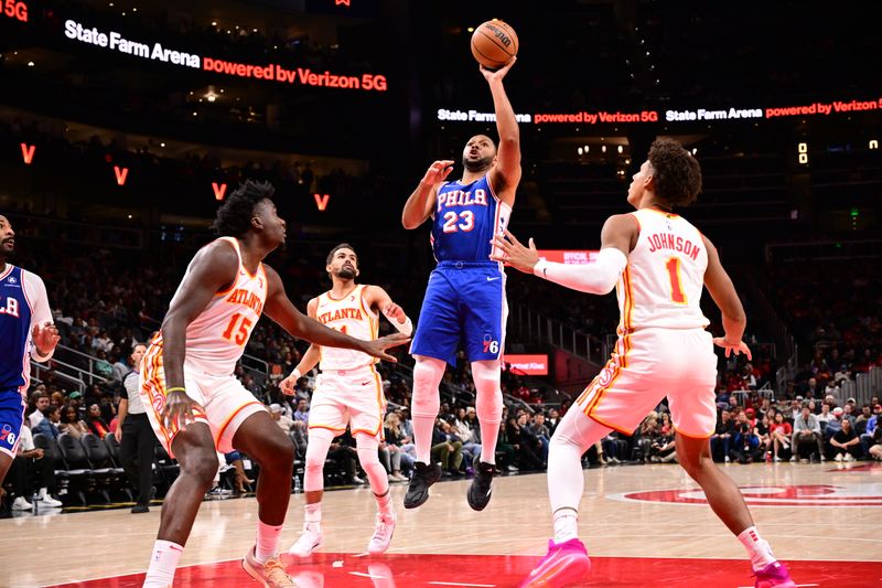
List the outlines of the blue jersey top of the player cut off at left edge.
<svg viewBox="0 0 882 588">
<path fill-rule="evenodd" d="M 30 376 L 31 304 L 22 278 L 12 265 L 0 274 L 0 391 L 18 389 Z"/>
</svg>

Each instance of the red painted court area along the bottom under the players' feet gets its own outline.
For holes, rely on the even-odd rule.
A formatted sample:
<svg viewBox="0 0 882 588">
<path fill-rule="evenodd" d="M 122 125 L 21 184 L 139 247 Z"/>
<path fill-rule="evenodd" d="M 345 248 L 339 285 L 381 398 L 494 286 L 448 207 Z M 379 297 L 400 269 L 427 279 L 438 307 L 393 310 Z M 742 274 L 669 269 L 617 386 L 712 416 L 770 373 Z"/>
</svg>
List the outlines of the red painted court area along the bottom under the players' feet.
<svg viewBox="0 0 882 588">
<path fill-rule="evenodd" d="M 288 571 L 301 588 L 410 588 L 461 586 L 476 588 L 517 586 L 538 557 L 494 555 L 387 555 L 319 554 L 308 563 L 283 557 Z M 579 586 L 615 587 L 752 587 L 749 564 L 735 559 L 674 559 L 637 557 L 592 558 L 591 576 Z M 882 563 L 787 562 L 798 586 L 859 588 L 880 586 Z M 140 588 L 143 574 L 57 585 L 53 588 Z M 175 586 L 233 588 L 257 586 L 238 560 L 191 566 L 178 570 Z"/>
</svg>

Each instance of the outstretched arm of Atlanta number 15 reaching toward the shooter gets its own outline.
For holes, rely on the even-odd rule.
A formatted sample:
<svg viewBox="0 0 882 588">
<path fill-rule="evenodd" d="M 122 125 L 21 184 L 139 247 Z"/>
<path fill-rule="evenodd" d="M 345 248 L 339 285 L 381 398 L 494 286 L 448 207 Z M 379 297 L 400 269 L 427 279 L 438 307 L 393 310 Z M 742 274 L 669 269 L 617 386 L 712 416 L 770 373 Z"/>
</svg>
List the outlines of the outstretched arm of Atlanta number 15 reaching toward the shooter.
<svg viewBox="0 0 882 588">
<path fill-rule="evenodd" d="M 407 338 L 396 339 L 392 335 L 377 341 L 362 341 L 349 335 L 343 334 L 333 329 L 329 329 L 315 319 L 306 317 L 300 312 L 284 293 L 282 280 L 275 269 L 263 266 L 267 271 L 269 289 L 267 302 L 263 304 L 263 312 L 276 321 L 282 329 L 293 336 L 316 343 L 327 348 L 354 349 L 380 357 L 386 361 L 397 361 L 391 355 L 385 353 L 387 348 L 400 345 L 408 341 Z"/>
</svg>

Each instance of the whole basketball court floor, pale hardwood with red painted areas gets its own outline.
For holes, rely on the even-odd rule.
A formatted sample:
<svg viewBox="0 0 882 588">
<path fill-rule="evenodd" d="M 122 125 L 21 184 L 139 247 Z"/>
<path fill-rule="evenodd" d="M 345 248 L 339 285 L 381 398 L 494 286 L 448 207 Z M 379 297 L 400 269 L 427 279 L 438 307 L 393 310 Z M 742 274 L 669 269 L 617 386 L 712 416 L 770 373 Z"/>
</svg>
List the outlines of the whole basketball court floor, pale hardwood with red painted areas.
<svg viewBox="0 0 882 588">
<path fill-rule="evenodd" d="M 882 582 L 882 464 L 728 464 L 756 524 L 800 586 Z M 327 492 L 325 545 L 306 560 L 284 556 L 302 587 L 517 586 L 551 533 L 545 474 L 499 478 L 483 513 L 467 480 L 438 483 L 420 509 L 401 506 L 385 556 L 368 557 L 369 489 Z M 753 586 L 741 544 L 675 464 L 585 471 L 580 534 L 592 557 L 584 586 Z M 297 538 L 303 496 L 291 498 L 281 547 Z M 57 512 L 57 511 L 56 511 Z M 159 525 L 128 509 L 0 520 L 0 586 L 140 587 Z M 202 505 L 175 586 L 250 586 L 239 558 L 254 542 L 254 498 Z M 480 524 L 478 524 L 480 523 Z"/>
</svg>

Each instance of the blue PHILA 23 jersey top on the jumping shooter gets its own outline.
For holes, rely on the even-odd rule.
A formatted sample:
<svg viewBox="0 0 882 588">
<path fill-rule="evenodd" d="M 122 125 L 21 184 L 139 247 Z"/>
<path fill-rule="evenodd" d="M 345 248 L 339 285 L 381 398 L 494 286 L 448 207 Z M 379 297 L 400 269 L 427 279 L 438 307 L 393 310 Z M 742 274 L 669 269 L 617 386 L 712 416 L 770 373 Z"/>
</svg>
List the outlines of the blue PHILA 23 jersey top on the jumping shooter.
<svg viewBox="0 0 882 588">
<path fill-rule="evenodd" d="M 490 261 L 491 240 L 502 234 L 512 216 L 484 175 L 470 184 L 462 181 L 438 189 L 432 212 L 432 253 L 437 261 Z"/>
</svg>

